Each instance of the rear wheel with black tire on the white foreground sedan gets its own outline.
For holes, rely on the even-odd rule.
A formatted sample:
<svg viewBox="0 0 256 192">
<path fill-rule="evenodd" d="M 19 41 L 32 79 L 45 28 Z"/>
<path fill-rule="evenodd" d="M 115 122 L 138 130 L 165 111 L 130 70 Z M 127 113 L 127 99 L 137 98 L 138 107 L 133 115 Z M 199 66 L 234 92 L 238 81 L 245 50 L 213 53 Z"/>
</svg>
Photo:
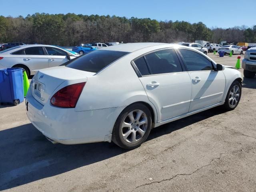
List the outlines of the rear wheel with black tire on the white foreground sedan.
<svg viewBox="0 0 256 192">
<path fill-rule="evenodd" d="M 126 107 L 118 116 L 112 131 L 112 141 L 124 149 L 134 149 L 147 138 L 152 127 L 150 110 L 141 103 Z"/>
</svg>

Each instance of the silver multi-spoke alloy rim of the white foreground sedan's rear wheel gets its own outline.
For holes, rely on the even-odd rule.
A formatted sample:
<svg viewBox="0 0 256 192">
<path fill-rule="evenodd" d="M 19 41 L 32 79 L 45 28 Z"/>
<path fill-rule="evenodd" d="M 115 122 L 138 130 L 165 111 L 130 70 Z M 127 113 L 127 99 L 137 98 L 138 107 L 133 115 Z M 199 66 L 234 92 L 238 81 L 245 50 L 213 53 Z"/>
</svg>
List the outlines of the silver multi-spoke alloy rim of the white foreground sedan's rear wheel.
<svg viewBox="0 0 256 192">
<path fill-rule="evenodd" d="M 122 137 L 128 143 L 142 139 L 148 127 L 148 118 L 142 110 L 129 112 L 122 123 Z"/>
</svg>

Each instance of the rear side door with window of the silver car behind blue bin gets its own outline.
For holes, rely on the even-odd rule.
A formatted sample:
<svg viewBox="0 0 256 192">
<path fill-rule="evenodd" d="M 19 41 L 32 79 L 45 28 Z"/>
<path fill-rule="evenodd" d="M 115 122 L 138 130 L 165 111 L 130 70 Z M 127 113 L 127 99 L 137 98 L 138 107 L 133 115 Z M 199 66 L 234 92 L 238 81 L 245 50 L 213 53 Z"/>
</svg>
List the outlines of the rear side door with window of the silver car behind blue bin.
<svg viewBox="0 0 256 192">
<path fill-rule="evenodd" d="M 43 47 L 34 46 L 24 49 L 25 54 L 21 55 L 24 64 L 26 64 L 30 70 L 37 71 L 39 69 L 48 68 L 48 56 L 45 54 Z"/>
</svg>

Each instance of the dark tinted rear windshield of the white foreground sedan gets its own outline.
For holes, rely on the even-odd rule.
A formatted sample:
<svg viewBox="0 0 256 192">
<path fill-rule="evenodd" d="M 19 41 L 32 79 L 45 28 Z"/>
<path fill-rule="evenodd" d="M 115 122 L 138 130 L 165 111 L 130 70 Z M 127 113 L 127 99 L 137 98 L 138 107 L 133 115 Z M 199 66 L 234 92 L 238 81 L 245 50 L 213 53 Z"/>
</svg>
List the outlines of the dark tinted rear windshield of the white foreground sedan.
<svg viewBox="0 0 256 192">
<path fill-rule="evenodd" d="M 97 73 L 128 53 L 129 52 L 95 50 L 70 62 L 66 67 Z"/>
</svg>

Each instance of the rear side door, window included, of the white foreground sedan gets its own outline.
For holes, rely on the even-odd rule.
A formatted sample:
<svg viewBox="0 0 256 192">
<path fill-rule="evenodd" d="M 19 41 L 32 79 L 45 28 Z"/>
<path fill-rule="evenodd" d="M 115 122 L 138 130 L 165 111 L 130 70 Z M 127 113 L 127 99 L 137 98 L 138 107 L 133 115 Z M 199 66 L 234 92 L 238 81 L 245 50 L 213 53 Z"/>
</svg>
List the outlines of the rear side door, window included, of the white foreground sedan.
<svg viewBox="0 0 256 192">
<path fill-rule="evenodd" d="M 149 53 L 134 64 L 148 99 L 157 109 L 158 122 L 188 112 L 191 80 L 173 48 Z"/>
</svg>

